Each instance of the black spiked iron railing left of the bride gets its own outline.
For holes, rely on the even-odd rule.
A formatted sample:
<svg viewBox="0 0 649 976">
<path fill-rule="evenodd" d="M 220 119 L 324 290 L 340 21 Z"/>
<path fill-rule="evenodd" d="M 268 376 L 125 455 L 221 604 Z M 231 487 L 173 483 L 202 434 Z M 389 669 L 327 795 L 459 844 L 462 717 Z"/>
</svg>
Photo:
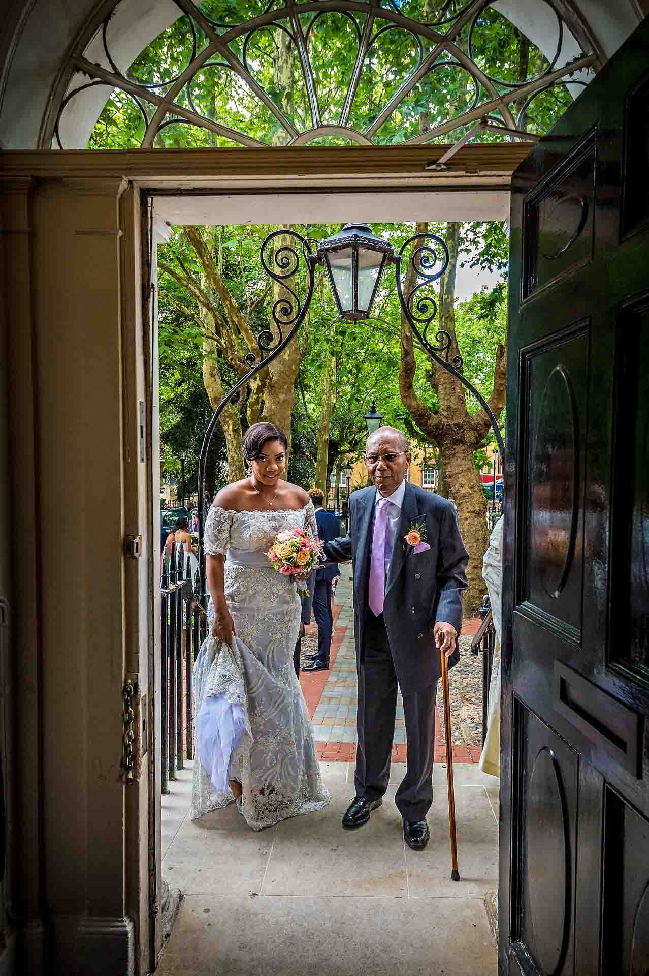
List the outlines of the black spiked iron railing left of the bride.
<svg viewBox="0 0 649 976">
<path fill-rule="evenodd" d="M 208 619 L 198 598 L 201 579 L 192 578 L 191 559 L 174 543 L 171 557 L 163 553 L 161 575 L 162 649 L 162 792 L 194 758 L 194 702 L 192 669 L 208 632 Z M 203 601 L 205 602 L 205 601 Z"/>
</svg>

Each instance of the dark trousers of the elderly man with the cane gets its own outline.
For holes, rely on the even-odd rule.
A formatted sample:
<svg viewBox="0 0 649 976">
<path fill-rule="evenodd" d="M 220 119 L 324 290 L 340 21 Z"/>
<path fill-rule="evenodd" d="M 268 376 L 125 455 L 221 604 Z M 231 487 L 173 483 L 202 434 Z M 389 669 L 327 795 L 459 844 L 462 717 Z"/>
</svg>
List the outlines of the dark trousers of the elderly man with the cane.
<svg viewBox="0 0 649 976">
<path fill-rule="evenodd" d="M 356 792 L 378 799 L 388 788 L 397 715 L 397 673 L 383 615 L 367 613 L 363 661 L 359 665 L 359 747 Z M 395 796 L 403 820 L 423 820 L 433 802 L 435 702 L 438 682 L 403 695 L 406 772 Z"/>
</svg>

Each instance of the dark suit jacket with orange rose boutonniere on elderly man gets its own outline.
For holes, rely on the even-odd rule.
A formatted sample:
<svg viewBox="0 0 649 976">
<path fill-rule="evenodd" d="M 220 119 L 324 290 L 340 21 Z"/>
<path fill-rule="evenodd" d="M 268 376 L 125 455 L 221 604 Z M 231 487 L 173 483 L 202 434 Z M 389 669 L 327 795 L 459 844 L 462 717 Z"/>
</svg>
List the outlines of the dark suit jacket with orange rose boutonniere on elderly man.
<svg viewBox="0 0 649 976">
<path fill-rule="evenodd" d="M 325 543 L 325 558 L 354 561 L 354 630 L 357 660 L 363 660 L 370 550 L 376 489 L 355 491 L 349 500 L 349 533 Z M 426 523 L 431 547 L 415 553 L 403 548 L 410 523 Z M 422 691 L 441 674 L 433 627 L 437 621 L 462 629 L 462 593 L 467 589 L 469 553 L 464 548 L 453 506 L 434 492 L 406 482 L 401 522 L 386 582 L 383 618 L 403 695 Z M 449 666 L 460 660 L 459 643 Z"/>
</svg>

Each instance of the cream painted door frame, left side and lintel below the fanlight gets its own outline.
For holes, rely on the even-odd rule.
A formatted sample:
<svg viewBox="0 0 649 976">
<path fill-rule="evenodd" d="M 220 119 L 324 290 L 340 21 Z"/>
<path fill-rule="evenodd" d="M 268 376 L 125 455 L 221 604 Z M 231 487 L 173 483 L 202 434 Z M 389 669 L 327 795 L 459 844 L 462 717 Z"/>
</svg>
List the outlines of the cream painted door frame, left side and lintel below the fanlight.
<svg viewBox="0 0 649 976">
<path fill-rule="evenodd" d="M 15 621 L 24 649 L 19 681 L 29 688 L 17 722 L 17 765 L 22 763 L 25 775 L 14 815 L 21 848 L 37 853 L 33 873 L 23 875 L 17 866 L 10 884 L 28 971 L 45 972 L 52 961 L 72 971 L 73 963 L 83 966 L 92 958 L 97 976 L 103 971 L 97 968 L 100 959 L 111 976 L 141 974 L 155 965 L 163 939 L 156 772 L 161 727 L 154 687 L 160 675 L 155 658 L 160 600 L 154 524 L 159 407 L 156 289 L 151 287 L 155 247 L 150 249 L 147 241 L 152 232 L 151 197 L 156 191 L 205 194 L 228 188 L 271 193 L 278 186 L 377 191 L 377 179 L 378 191 L 385 193 L 398 187 L 473 194 L 497 186 L 508 191 L 511 174 L 529 145 L 468 145 L 449 161 L 448 169 L 427 169 L 442 151 L 425 146 L 0 154 L 12 370 L 13 511 L 20 526 L 14 540 L 20 554 L 14 560 Z M 61 386 L 48 372 L 47 356 L 64 370 L 66 343 L 74 344 L 73 360 L 79 349 L 90 359 L 88 369 L 83 361 L 75 363 L 77 368 L 63 377 Z M 114 416 L 99 410 L 94 426 L 82 425 L 82 430 L 95 431 L 96 438 L 83 444 L 88 468 L 65 467 L 58 455 L 67 454 L 73 462 L 84 457 L 82 445 L 72 439 L 75 423 L 81 423 L 75 411 L 92 406 L 94 384 L 103 377 L 91 361 L 99 349 L 105 357 L 105 391 Z M 73 409 L 69 416 L 57 407 L 57 397 L 65 389 Z M 44 468 L 48 463 L 51 468 Z M 78 545 L 84 551 L 93 549 L 89 558 L 95 563 L 90 569 L 111 584 L 99 587 L 98 597 L 96 587 L 81 588 L 78 605 L 89 633 L 85 641 L 75 633 L 71 644 L 57 625 L 57 599 L 63 600 L 63 590 L 52 582 L 61 562 L 48 521 L 46 485 L 51 471 L 56 471 L 60 497 L 82 499 L 84 485 L 91 483 L 114 529 L 110 541 L 93 549 L 94 526 L 88 512 L 86 534 L 82 531 Z M 110 483 L 110 495 L 102 478 Z M 145 558 L 125 554 L 127 536 L 141 536 Z M 103 630 L 95 630 L 97 598 Z M 65 667 L 68 652 L 76 671 L 66 689 L 52 674 Z M 84 664 L 88 671 L 81 674 Z M 146 689 L 146 715 L 135 709 L 134 731 L 137 743 L 141 719 L 146 717 L 149 746 L 136 760 L 134 784 L 125 787 L 119 776 L 121 691 L 127 677 L 137 679 L 140 693 Z M 73 816 L 63 816 L 63 796 L 57 793 L 72 701 L 73 711 L 82 716 L 75 725 L 81 758 L 65 797 L 68 812 L 85 811 L 78 823 Z M 108 820 L 102 823 L 102 817 Z M 63 884 L 57 851 L 66 843 L 74 846 L 75 840 L 79 858 Z M 83 897 L 75 898 L 75 892 Z M 54 946 L 50 959 L 48 946 Z"/>
</svg>

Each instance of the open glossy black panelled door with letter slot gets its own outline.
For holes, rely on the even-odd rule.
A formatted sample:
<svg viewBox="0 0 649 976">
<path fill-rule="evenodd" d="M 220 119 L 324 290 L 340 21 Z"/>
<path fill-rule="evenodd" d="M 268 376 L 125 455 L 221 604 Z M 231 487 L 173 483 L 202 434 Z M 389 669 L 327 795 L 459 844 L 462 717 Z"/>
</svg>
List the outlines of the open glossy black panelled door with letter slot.
<svg viewBox="0 0 649 976">
<path fill-rule="evenodd" d="M 515 173 L 500 973 L 649 974 L 649 21 Z"/>
</svg>

